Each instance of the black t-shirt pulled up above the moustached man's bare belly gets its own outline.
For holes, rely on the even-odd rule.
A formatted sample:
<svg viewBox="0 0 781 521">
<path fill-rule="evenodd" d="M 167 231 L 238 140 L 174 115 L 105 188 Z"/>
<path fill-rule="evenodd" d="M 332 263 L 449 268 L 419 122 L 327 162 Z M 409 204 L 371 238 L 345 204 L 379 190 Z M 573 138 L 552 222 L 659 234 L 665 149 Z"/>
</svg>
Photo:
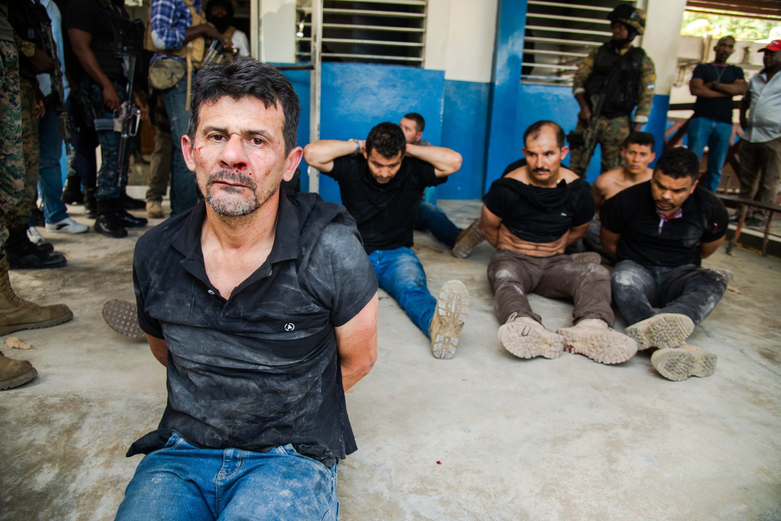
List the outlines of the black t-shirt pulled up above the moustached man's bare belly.
<svg viewBox="0 0 781 521">
<path fill-rule="evenodd" d="M 491 184 L 483 203 L 510 232 L 530 243 L 552 243 L 594 217 L 594 196 L 585 179 L 540 188 L 503 177 Z"/>
</svg>

